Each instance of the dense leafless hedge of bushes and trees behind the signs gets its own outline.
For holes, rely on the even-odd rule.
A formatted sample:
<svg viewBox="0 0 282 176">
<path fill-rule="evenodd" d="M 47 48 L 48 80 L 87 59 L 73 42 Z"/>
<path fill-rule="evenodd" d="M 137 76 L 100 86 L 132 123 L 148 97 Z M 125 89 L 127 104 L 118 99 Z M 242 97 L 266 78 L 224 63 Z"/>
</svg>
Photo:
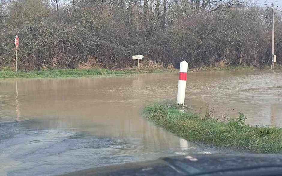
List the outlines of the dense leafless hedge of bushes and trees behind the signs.
<svg viewBox="0 0 282 176">
<path fill-rule="evenodd" d="M 160 1 L 154 1 L 158 8 L 150 11 L 137 1 L 76 0 L 52 9 L 46 2 L 12 0 L 6 4 L 4 15 L 0 14 L 0 66 L 14 64 L 11 49 L 16 34 L 20 69 L 78 68 L 93 58 L 100 67 L 120 69 L 134 66 L 131 57 L 139 54 L 145 61 L 164 67 L 173 63 L 176 68 L 182 60 L 190 68 L 263 67 L 271 63 L 269 8 L 251 6 L 207 13 L 208 9 L 193 10 L 189 3 L 171 2 L 164 12 L 161 6 L 168 4 Z M 279 58 L 280 14 L 276 19 Z"/>
</svg>

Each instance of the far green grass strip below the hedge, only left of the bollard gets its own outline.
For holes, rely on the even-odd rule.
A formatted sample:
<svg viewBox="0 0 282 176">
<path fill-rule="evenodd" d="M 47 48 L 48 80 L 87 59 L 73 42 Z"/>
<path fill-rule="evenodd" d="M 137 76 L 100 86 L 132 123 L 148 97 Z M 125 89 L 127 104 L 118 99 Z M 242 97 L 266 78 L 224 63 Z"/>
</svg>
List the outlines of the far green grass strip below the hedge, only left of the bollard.
<svg viewBox="0 0 282 176">
<path fill-rule="evenodd" d="M 110 70 L 92 69 L 46 69 L 35 71 L 19 70 L 17 73 L 11 68 L 0 68 L 0 78 L 64 78 L 64 77 L 93 77 L 97 75 L 126 75 L 134 73 L 178 72 L 177 69 L 128 69 Z"/>
</svg>

